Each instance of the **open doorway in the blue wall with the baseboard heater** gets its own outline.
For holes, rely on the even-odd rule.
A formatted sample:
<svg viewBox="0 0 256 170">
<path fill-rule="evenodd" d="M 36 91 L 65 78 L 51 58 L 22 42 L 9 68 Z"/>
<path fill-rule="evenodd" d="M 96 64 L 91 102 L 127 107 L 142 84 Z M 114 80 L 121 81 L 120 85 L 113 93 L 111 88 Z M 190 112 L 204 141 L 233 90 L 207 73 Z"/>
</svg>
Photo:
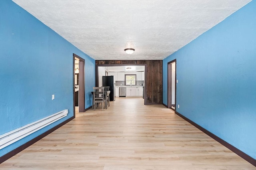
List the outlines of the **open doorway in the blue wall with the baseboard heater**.
<svg viewBox="0 0 256 170">
<path fill-rule="evenodd" d="M 84 59 L 73 54 L 74 63 L 74 111 L 84 112 Z"/>
</svg>

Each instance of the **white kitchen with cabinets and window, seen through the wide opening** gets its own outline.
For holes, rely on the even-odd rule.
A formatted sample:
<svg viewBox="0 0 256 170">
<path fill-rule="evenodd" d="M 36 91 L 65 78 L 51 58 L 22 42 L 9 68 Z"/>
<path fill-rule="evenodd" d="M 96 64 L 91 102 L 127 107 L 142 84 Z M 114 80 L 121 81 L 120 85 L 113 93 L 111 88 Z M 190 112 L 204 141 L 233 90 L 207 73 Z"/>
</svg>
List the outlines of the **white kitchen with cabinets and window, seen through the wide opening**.
<svg viewBox="0 0 256 170">
<path fill-rule="evenodd" d="M 103 76 L 114 76 L 115 97 L 144 99 L 144 66 L 100 66 L 98 68 L 99 86 L 102 86 Z"/>
</svg>

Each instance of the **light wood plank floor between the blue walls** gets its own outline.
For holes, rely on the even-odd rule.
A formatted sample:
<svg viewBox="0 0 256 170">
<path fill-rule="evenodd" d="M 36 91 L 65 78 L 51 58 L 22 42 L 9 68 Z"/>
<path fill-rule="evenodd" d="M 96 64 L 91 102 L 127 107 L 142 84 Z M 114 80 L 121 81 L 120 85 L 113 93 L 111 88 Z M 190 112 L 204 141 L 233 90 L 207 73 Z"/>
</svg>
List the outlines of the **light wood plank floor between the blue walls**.
<svg viewBox="0 0 256 170">
<path fill-rule="evenodd" d="M 76 118 L 0 165 L 11 170 L 252 170 L 162 105 L 117 98 Z"/>
</svg>

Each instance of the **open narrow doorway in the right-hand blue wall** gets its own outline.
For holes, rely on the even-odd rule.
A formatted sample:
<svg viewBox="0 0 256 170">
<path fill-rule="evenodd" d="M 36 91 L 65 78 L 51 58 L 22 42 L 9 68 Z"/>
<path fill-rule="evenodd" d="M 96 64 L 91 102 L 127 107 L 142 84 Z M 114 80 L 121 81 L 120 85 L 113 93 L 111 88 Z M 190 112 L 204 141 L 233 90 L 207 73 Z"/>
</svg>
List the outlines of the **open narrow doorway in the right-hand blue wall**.
<svg viewBox="0 0 256 170">
<path fill-rule="evenodd" d="M 168 63 L 168 108 L 176 110 L 176 59 Z"/>
</svg>

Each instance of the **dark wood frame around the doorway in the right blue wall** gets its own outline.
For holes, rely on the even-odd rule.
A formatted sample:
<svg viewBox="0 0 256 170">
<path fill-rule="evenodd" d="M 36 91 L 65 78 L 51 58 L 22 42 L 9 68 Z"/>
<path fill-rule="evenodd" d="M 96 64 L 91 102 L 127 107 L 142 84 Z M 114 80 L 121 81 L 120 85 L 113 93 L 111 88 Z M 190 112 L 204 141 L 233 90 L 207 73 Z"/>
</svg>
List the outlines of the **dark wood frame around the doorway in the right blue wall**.
<svg viewBox="0 0 256 170">
<path fill-rule="evenodd" d="M 175 104 L 174 108 L 172 108 L 172 63 L 175 62 Z M 168 74 L 168 80 L 167 80 L 167 106 L 168 108 L 176 110 L 176 59 L 168 62 L 167 64 L 167 74 Z"/>
</svg>

